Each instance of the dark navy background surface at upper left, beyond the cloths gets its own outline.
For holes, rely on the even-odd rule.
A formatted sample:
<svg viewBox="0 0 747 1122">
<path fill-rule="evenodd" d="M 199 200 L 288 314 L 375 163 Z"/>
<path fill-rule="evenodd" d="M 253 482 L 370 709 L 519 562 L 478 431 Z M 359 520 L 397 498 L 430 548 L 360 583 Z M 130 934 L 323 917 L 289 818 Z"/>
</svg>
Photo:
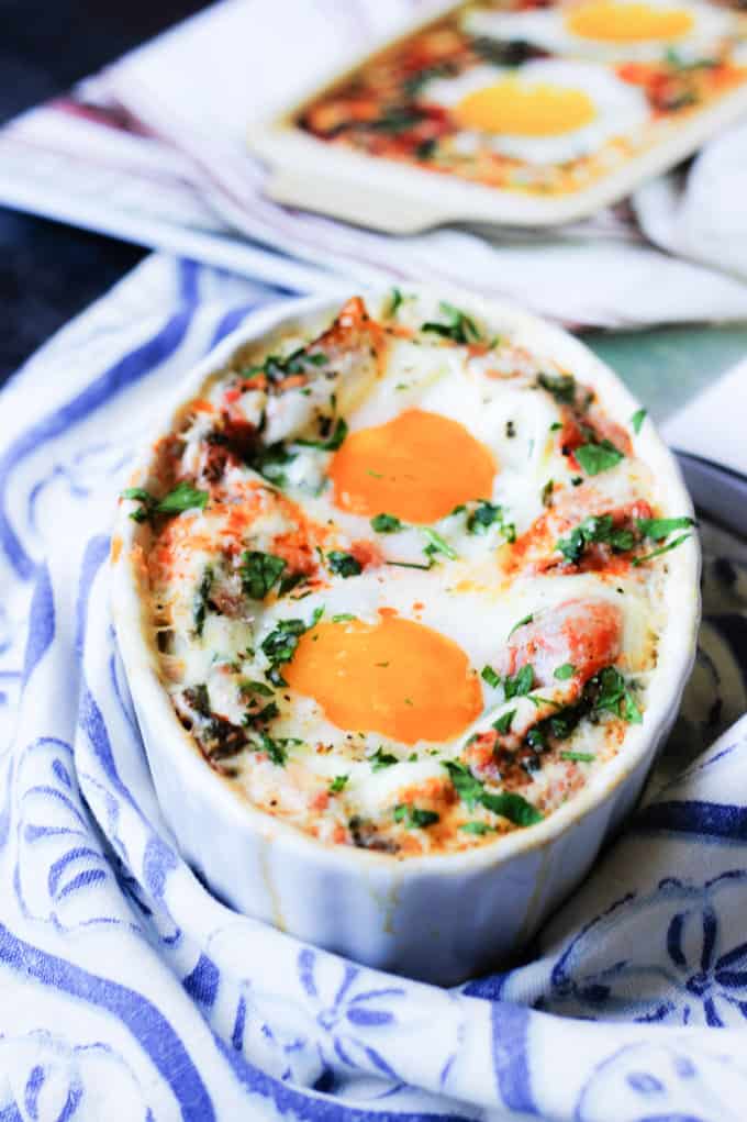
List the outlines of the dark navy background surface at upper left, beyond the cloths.
<svg viewBox="0 0 747 1122">
<path fill-rule="evenodd" d="M 205 7 L 204 0 L 0 0 L 0 123 Z M 0 385 L 145 252 L 0 206 Z"/>
</svg>

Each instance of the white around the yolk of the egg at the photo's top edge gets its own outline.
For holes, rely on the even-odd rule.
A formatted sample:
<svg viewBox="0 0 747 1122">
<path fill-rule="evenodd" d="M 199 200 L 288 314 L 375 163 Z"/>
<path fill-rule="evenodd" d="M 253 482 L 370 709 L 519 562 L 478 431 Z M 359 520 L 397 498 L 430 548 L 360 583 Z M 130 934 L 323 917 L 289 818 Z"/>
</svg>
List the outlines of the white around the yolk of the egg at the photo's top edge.
<svg viewBox="0 0 747 1122">
<path fill-rule="evenodd" d="M 624 3 L 626 0 L 619 0 Z M 627 0 L 639 2 L 639 0 Z M 463 28 L 469 35 L 501 42 L 523 39 L 553 54 L 581 56 L 599 62 L 651 62 L 664 58 L 667 49 L 676 50 L 684 62 L 710 58 L 718 54 L 725 36 L 735 28 L 734 13 L 701 3 L 699 0 L 645 0 L 651 8 L 686 11 L 693 26 L 684 36 L 672 42 L 649 39 L 643 43 L 609 43 L 575 35 L 565 22 L 570 4 L 528 11 L 496 11 L 478 8 L 464 16 Z"/>
</svg>

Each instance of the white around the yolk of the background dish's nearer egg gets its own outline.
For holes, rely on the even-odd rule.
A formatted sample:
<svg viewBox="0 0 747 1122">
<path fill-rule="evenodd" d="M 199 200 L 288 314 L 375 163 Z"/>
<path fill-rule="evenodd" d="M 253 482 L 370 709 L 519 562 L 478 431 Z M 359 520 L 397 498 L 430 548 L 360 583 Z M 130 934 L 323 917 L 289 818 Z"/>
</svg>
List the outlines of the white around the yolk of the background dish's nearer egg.
<svg viewBox="0 0 747 1122">
<path fill-rule="evenodd" d="M 462 130 L 458 146 L 474 145 L 476 140 L 495 151 L 532 164 L 562 164 L 601 148 L 607 140 L 640 128 L 648 119 L 645 94 L 624 82 L 597 63 L 565 59 L 537 59 L 516 70 L 500 66 L 476 66 L 457 77 L 434 79 L 423 85 L 424 101 L 453 108 L 468 94 L 496 85 L 518 75 L 528 86 L 547 83 L 566 90 L 581 91 L 594 107 L 596 117 L 589 125 L 560 136 L 526 137 L 505 134 L 471 134 Z"/>
</svg>

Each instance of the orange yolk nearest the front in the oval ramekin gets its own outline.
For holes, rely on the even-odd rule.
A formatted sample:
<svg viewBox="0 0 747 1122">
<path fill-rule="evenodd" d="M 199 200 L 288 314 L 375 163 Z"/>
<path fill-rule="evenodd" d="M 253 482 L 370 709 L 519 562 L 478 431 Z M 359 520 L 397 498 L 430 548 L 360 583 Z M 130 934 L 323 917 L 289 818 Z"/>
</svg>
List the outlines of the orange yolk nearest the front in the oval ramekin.
<svg viewBox="0 0 747 1122">
<path fill-rule="evenodd" d="M 398 616 L 320 623 L 302 635 L 283 672 L 339 728 L 403 744 L 448 741 L 482 709 L 480 683 L 462 649 Z"/>
</svg>

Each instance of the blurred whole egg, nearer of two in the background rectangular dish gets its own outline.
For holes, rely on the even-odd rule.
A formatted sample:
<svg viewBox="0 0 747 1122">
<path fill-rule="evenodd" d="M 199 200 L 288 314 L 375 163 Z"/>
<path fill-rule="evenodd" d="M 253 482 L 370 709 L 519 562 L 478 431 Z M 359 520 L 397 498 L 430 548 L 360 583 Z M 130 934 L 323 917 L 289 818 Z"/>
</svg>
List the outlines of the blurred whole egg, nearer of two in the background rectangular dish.
<svg viewBox="0 0 747 1122">
<path fill-rule="evenodd" d="M 649 113 L 644 92 L 608 67 L 554 58 L 435 77 L 423 84 L 419 100 L 449 110 L 459 129 L 451 140 L 457 149 L 479 142 L 533 164 L 597 151 L 639 129 Z"/>
</svg>

